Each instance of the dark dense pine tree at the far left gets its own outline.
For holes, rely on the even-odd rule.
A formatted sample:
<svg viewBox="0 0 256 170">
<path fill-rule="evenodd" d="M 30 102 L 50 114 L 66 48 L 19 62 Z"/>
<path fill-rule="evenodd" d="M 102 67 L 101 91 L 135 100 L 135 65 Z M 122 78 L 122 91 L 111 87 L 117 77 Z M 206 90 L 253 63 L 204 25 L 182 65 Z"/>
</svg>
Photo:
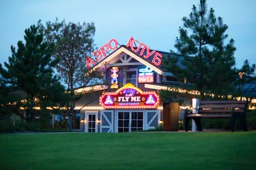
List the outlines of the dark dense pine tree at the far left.
<svg viewBox="0 0 256 170">
<path fill-rule="evenodd" d="M 20 96 L 21 103 L 20 99 L 16 101 L 19 106 L 26 108 L 24 118 L 28 121 L 33 117 L 33 107 L 46 108 L 47 104 L 53 106 L 60 102 L 61 96 L 65 96 L 60 78 L 54 75 L 54 67 L 60 60 L 52 59 L 54 46 L 43 42 L 43 38 L 44 34 L 38 31 L 38 27 L 31 25 L 25 30 L 25 43 L 19 41 L 17 50 L 11 46 L 12 56 L 8 58 L 8 62 L 4 62 L 6 68 L 0 64 L 3 87 L 12 89 L 10 92 L 16 90 L 24 94 Z M 19 111 L 16 113 L 22 116 Z"/>
</svg>

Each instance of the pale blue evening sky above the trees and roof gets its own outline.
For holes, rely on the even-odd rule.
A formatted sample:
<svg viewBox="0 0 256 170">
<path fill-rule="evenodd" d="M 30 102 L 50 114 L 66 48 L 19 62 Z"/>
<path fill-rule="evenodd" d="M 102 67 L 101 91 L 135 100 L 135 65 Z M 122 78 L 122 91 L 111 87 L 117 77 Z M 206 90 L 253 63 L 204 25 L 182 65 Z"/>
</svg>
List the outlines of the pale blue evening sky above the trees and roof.
<svg viewBox="0 0 256 170">
<path fill-rule="evenodd" d="M 94 22 L 97 47 L 115 38 L 126 45 L 132 36 L 155 50 L 175 50 L 175 38 L 193 4 L 200 0 L 0 0 L 0 63 L 12 55 L 10 46 L 24 41 L 24 30 L 42 20 L 45 24 L 59 18 L 67 22 Z M 235 40 L 236 67 L 248 59 L 256 63 L 256 1 L 208 0 L 216 17 L 228 25 L 228 39 Z"/>
</svg>

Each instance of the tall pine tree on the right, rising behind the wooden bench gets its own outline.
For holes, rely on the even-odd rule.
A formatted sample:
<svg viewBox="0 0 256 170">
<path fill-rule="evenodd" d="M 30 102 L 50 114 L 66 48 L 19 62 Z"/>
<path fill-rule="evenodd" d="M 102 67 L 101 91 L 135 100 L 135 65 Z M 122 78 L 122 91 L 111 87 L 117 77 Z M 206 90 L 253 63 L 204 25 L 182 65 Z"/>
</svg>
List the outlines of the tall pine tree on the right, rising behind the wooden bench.
<svg viewBox="0 0 256 170">
<path fill-rule="evenodd" d="M 202 99 L 209 97 L 205 94 L 227 96 L 235 90 L 238 76 L 234 39 L 225 43 L 228 26 L 221 17 L 215 17 L 212 8 L 207 11 L 206 0 L 200 0 L 198 8 L 193 5 L 189 17 L 183 17 L 182 21 L 180 36 L 175 41 L 176 51 L 170 50 L 163 68 L 173 73 L 182 86 L 189 81 L 192 84 L 189 87 L 198 90 Z"/>
</svg>

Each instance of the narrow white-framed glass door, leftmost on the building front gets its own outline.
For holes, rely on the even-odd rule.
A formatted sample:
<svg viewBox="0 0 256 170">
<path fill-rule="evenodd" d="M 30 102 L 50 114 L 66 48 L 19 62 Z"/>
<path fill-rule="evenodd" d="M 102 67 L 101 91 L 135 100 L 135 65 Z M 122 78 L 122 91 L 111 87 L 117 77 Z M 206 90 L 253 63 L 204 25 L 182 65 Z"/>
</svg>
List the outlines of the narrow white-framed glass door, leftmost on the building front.
<svg viewBox="0 0 256 170">
<path fill-rule="evenodd" d="M 98 132 L 97 127 L 97 120 L 98 114 L 97 113 L 85 113 L 85 132 Z"/>
</svg>

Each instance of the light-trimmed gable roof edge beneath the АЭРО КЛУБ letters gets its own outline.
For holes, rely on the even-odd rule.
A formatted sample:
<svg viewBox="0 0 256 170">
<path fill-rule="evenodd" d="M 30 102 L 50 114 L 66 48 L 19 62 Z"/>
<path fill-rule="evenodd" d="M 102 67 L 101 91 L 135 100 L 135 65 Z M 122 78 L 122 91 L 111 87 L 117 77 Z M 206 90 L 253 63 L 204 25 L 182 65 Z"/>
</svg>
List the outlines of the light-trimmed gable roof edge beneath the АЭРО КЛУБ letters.
<svg viewBox="0 0 256 170">
<path fill-rule="evenodd" d="M 151 51 L 152 50 L 150 50 L 150 52 Z M 89 71 L 99 69 L 100 67 L 104 66 L 105 64 L 108 64 L 111 60 L 115 59 L 115 57 L 118 57 L 118 55 L 120 55 L 120 53 L 122 53 L 122 52 L 124 52 L 127 55 L 131 56 L 132 58 L 138 60 L 139 62 L 141 62 L 145 66 L 150 67 L 151 69 L 156 71 L 156 73 L 158 73 L 158 74 L 172 76 L 172 73 L 168 73 L 168 72 L 164 71 L 163 68 L 161 68 L 161 65 L 156 66 L 155 64 L 152 64 L 152 60 L 154 59 L 154 55 L 151 55 L 150 57 L 148 57 L 148 59 L 145 59 L 143 57 L 143 55 L 147 54 L 147 50 L 145 50 L 143 55 L 141 56 L 140 55 L 141 49 L 138 52 L 134 52 L 134 51 L 131 50 L 131 48 L 127 48 L 127 46 L 125 46 L 125 45 L 121 45 L 114 52 L 109 54 L 108 57 L 105 57 L 104 59 L 100 60 L 100 62 L 95 64 L 95 66 L 93 66 Z M 168 55 L 167 52 L 161 52 L 161 51 L 157 51 L 157 50 L 156 50 L 156 52 L 161 53 L 161 55 L 163 55 L 163 57 L 167 57 L 167 55 Z"/>
</svg>

